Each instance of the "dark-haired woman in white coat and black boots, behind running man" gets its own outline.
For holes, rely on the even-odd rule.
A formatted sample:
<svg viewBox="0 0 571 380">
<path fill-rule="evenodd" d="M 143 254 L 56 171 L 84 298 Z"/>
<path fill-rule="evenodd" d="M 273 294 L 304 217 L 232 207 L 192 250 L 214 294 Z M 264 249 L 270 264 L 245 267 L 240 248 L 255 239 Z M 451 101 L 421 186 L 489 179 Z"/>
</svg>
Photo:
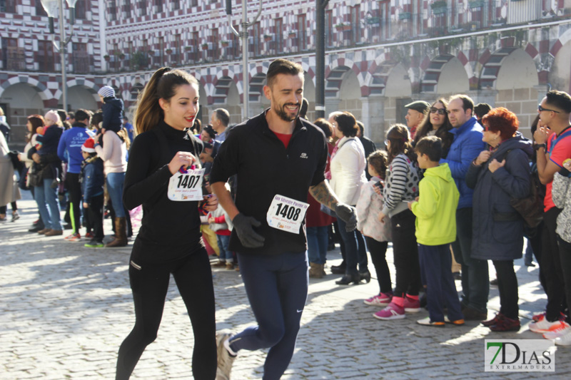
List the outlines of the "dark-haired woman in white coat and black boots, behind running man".
<svg viewBox="0 0 571 380">
<path fill-rule="evenodd" d="M 355 206 L 359 200 L 360 188 L 367 182 L 365 177 L 365 149 L 355 136 L 358 132 L 357 122 L 351 113 L 343 112 L 333 116 L 333 128 L 339 138 L 331 157 L 331 181 L 333 192 L 340 202 Z M 345 275 L 336 284 L 358 284 L 361 279 L 370 281 L 367 268 L 367 250 L 365 240 L 358 230 L 347 232 L 345 222 L 337 220 L 341 239 L 345 243 Z M 359 267 L 357 269 L 357 267 Z"/>
</svg>

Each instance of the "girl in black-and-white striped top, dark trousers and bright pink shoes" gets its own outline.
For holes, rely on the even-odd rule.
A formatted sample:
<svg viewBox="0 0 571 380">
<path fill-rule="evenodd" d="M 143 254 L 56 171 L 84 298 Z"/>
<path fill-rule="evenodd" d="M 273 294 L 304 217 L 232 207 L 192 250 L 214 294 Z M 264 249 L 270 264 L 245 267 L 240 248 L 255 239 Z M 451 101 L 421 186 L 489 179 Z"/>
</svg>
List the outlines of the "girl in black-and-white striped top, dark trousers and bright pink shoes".
<svg viewBox="0 0 571 380">
<path fill-rule="evenodd" d="M 418 197 L 419 173 L 408 128 L 393 125 L 387 133 L 388 172 L 383 197 L 385 204 L 378 215 L 390 218 L 396 286 L 393 299 L 374 314 L 378 319 L 403 319 L 405 312 L 420 312 L 420 266 L 415 237 L 415 215 L 408 203 Z"/>
</svg>

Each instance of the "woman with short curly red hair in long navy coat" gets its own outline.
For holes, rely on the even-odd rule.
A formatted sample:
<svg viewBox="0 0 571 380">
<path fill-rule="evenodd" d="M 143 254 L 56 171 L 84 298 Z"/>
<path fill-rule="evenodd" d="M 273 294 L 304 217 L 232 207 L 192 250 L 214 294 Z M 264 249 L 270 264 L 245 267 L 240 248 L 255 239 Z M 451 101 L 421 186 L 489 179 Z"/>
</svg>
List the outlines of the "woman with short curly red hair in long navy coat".
<svg viewBox="0 0 571 380">
<path fill-rule="evenodd" d="M 466 183 L 474 189 L 472 257 L 492 260 L 500 291 L 500 312 L 482 322 L 495 332 L 520 329 L 517 277 L 513 260 L 522 257 L 522 217 L 510 205 L 512 197 L 530 192 L 532 143 L 517 132 L 519 121 L 506 108 L 494 108 L 482 118 L 484 137 L 491 150 L 473 161 Z"/>
</svg>

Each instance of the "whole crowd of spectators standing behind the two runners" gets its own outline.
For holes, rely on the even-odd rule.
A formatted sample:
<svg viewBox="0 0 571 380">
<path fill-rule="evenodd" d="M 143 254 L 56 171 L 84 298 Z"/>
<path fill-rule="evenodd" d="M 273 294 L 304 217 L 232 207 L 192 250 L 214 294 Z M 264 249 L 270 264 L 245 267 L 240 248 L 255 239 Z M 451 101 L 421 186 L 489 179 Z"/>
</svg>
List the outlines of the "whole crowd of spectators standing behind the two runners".
<svg viewBox="0 0 571 380">
<path fill-rule="evenodd" d="M 0 220 L 19 219 L 16 201 L 30 191 L 38 218 L 29 232 L 63 240 L 85 239 L 92 248 L 124 247 L 133 235 L 131 218 L 141 206 L 123 204 L 129 148 L 136 131 L 113 88 L 98 91 L 102 108 L 74 113 L 50 110 L 29 115 L 26 146 L 9 150 L 9 125 L 0 112 Z M 515 113 L 475 105 L 458 94 L 432 104 L 405 106 L 407 124 L 391 125 L 383 149 L 365 137 L 365 125 L 349 112 L 336 111 L 314 124 L 328 144 L 325 178 L 340 202 L 355 207 L 358 227 L 348 231 L 335 212 L 308 193 L 304 230 L 309 277 L 326 275 L 326 252 L 335 242 L 343 262 L 330 267 L 342 274 L 340 286 L 370 282 L 368 260 L 379 292 L 365 299 L 375 318 L 388 323 L 426 307 L 426 326 L 461 325 L 477 320 L 493 332 L 520 329 L 514 260 L 540 269 L 547 294 L 545 312 L 529 329 L 556 344 L 571 345 L 571 97 L 550 91 L 530 125 L 532 140 L 520 133 Z M 305 118 L 307 103 L 301 106 Z M 527 127 L 527 126 L 526 126 Z M 214 158 L 231 132 L 223 108 L 210 124 L 194 121 L 190 133 L 201 140 L 203 192 L 211 193 Z M 234 194 L 237 178 L 226 187 Z M 64 217 L 61 214 L 64 213 Z M 222 207 L 203 208 L 201 235 L 213 267 L 239 270 L 228 249 L 233 223 Z M 103 219 L 112 218 L 113 235 Z M 394 273 L 386 260 L 393 245 Z M 488 260 L 495 267 L 500 311 L 488 318 Z M 456 269 L 455 269 L 456 268 Z M 455 277 L 461 277 L 460 296 Z"/>
</svg>

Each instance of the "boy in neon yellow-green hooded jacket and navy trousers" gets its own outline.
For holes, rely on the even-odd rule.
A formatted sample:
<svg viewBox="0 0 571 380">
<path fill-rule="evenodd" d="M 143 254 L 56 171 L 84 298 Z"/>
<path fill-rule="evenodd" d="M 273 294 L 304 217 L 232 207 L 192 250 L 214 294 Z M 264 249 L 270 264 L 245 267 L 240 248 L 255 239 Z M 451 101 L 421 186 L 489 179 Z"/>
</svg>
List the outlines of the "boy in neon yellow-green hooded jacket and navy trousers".
<svg viewBox="0 0 571 380">
<path fill-rule="evenodd" d="M 450 268 L 450 243 L 456 239 L 456 207 L 460 193 L 447 163 L 439 164 L 442 140 L 425 137 L 415 147 L 418 166 L 426 169 L 419 183 L 419 197 L 408 202 L 416 216 L 416 241 L 423 283 L 427 285 L 429 317 L 418 324 L 443 327 L 445 322 L 464 324 L 460 299 Z M 448 318 L 443 308 L 448 308 Z"/>
</svg>

